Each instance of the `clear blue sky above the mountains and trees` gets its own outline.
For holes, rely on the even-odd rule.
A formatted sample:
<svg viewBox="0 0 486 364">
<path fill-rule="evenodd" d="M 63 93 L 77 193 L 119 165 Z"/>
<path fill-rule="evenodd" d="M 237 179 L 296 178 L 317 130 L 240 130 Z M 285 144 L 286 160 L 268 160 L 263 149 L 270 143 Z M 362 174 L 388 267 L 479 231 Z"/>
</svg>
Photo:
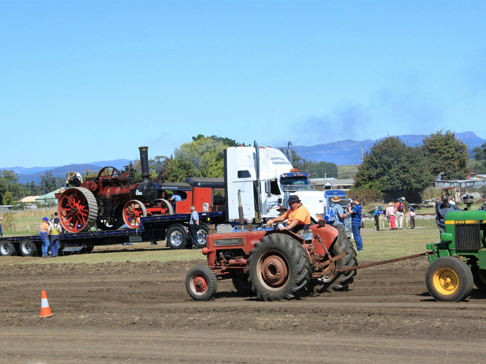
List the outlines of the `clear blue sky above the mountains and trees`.
<svg viewBox="0 0 486 364">
<path fill-rule="evenodd" d="M 472 130 L 486 3 L 0 2 L 1 165 Z"/>
</svg>

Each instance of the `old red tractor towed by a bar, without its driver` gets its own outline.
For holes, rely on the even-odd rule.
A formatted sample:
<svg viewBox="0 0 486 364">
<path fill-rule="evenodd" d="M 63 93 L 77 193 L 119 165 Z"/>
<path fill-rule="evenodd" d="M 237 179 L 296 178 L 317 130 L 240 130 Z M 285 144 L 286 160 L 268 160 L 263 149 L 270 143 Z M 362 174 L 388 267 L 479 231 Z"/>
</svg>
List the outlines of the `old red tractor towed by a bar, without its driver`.
<svg viewBox="0 0 486 364">
<path fill-rule="evenodd" d="M 356 274 L 351 242 L 324 220 L 297 234 L 288 230 L 210 234 L 202 252 L 208 256 L 208 266 L 196 265 L 186 276 L 187 292 L 196 300 L 212 298 L 217 281 L 224 279 L 231 279 L 242 293 L 280 301 L 306 290 L 345 288 Z"/>
</svg>

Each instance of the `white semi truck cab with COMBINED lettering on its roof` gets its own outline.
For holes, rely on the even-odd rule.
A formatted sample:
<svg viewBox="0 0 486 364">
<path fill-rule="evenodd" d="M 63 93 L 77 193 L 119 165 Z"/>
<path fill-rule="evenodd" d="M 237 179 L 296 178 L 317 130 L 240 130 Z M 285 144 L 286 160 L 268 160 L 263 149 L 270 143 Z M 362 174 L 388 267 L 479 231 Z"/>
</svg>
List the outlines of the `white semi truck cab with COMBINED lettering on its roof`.
<svg viewBox="0 0 486 364">
<path fill-rule="evenodd" d="M 225 189 L 227 220 L 239 218 L 238 191 L 248 223 L 276 217 L 278 207 L 288 208 L 287 199 L 294 194 L 309 209 L 313 223 L 325 213 L 324 195 L 313 190 L 309 174 L 293 168 L 279 149 L 259 147 L 256 142 L 254 147 L 225 150 Z"/>
</svg>

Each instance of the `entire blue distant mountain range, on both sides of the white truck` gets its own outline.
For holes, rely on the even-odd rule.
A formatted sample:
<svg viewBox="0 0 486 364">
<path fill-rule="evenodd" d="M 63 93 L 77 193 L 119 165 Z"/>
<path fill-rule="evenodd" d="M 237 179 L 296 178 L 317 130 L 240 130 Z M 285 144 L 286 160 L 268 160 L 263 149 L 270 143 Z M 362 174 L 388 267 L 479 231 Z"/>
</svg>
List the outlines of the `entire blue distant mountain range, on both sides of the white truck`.
<svg viewBox="0 0 486 364">
<path fill-rule="evenodd" d="M 399 138 L 403 140 L 409 146 L 422 145 L 422 139 L 427 135 L 399 135 Z M 473 155 L 472 149 L 480 147 L 483 143 L 486 143 L 485 139 L 480 138 L 474 132 L 458 132 L 456 136 L 463 142 L 468 144 L 468 153 Z M 293 149 L 298 156 L 305 159 L 312 159 L 313 161 L 326 161 L 334 162 L 337 165 L 345 164 L 359 164 L 361 163 L 361 149 L 365 153 L 369 150 L 373 143 L 382 140 L 384 138 L 371 140 L 367 139 L 364 141 L 357 140 L 340 140 L 337 142 L 318 144 L 310 147 L 305 146 L 294 146 Z M 284 149 L 287 149 L 285 147 Z M 128 165 L 128 163 L 133 162 L 129 159 L 115 159 L 112 161 L 97 161 L 84 164 L 70 164 L 61 166 L 49 166 L 49 167 L 0 167 L 0 170 L 7 169 L 13 170 L 18 174 L 18 182 L 24 184 L 25 182 L 34 181 L 35 184 L 40 182 L 40 176 L 44 174 L 47 170 L 52 170 L 52 175 L 55 177 L 66 177 L 66 173 L 70 171 L 76 171 L 84 173 L 85 169 L 88 168 L 92 171 L 98 171 L 106 165 L 113 166 L 115 168 L 121 169 L 123 166 Z"/>
</svg>

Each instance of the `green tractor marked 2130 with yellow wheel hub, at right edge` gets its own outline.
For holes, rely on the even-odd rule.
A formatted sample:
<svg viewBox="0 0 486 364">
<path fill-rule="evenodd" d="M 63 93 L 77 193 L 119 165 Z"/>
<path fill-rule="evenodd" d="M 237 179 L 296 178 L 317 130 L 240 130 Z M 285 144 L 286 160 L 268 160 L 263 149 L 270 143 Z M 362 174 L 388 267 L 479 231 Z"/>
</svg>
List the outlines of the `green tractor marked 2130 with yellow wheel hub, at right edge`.
<svg viewBox="0 0 486 364">
<path fill-rule="evenodd" d="M 471 210 L 472 196 L 464 196 L 465 210 L 446 215 L 441 241 L 427 244 L 432 250 L 425 275 L 427 290 L 438 301 L 460 301 L 473 283 L 486 292 L 486 211 Z"/>
</svg>

